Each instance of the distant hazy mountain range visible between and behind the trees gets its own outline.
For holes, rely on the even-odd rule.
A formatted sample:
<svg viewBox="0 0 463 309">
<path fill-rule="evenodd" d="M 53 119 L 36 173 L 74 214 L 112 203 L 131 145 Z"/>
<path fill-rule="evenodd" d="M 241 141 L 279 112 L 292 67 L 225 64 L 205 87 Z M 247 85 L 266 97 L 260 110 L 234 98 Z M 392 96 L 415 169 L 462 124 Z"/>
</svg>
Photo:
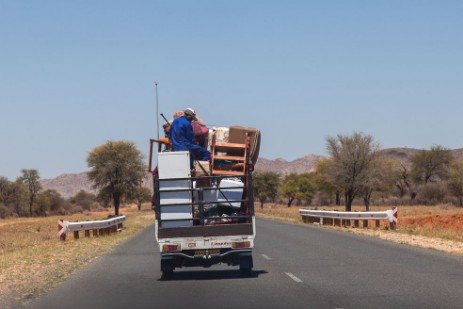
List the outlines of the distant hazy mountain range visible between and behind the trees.
<svg viewBox="0 0 463 309">
<path fill-rule="evenodd" d="M 383 149 L 381 152 L 390 158 L 404 162 L 405 165 L 410 164 L 410 158 L 419 151 L 413 148 L 388 148 Z M 451 150 L 455 159 L 463 159 L 463 148 Z M 313 170 L 315 163 L 324 158 L 320 155 L 306 155 L 302 158 L 287 161 L 285 159 L 268 160 L 259 158 L 257 160 L 255 171 L 256 172 L 275 172 L 281 175 L 288 175 L 290 173 L 308 173 Z M 143 186 L 152 189 L 151 176 L 147 173 Z M 61 194 L 64 198 L 74 196 L 80 190 L 91 193 L 96 193 L 92 189 L 92 183 L 87 179 L 87 174 L 63 174 L 53 179 L 43 179 L 41 184 L 44 190 L 53 189 Z"/>
</svg>

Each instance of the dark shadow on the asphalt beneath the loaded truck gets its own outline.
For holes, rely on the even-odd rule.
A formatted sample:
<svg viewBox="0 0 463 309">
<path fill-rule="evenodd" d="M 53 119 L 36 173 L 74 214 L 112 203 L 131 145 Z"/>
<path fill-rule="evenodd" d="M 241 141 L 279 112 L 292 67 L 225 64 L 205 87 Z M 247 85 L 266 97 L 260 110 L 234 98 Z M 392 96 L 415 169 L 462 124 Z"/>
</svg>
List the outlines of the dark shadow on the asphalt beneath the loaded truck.
<svg viewBox="0 0 463 309">
<path fill-rule="evenodd" d="M 158 281 L 187 281 L 187 280 L 223 280 L 223 279 L 248 279 L 258 278 L 267 274 L 265 270 L 253 270 L 249 275 L 243 275 L 239 269 L 230 270 L 185 270 L 174 271 L 168 276 L 162 276 Z"/>
</svg>

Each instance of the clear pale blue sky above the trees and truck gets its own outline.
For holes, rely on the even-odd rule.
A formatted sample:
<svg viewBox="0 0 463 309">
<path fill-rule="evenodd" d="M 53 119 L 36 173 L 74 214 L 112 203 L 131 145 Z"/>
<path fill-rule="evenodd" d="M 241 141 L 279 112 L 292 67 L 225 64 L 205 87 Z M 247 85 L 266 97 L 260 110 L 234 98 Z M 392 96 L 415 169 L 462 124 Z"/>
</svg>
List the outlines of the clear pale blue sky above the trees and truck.
<svg viewBox="0 0 463 309">
<path fill-rule="evenodd" d="M 266 159 L 353 132 L 462 148 L 463 1 L 0 0 L 0 176 L 147 155 L 155 81 L 159 112 L 258 128 Z"/>
</svg>

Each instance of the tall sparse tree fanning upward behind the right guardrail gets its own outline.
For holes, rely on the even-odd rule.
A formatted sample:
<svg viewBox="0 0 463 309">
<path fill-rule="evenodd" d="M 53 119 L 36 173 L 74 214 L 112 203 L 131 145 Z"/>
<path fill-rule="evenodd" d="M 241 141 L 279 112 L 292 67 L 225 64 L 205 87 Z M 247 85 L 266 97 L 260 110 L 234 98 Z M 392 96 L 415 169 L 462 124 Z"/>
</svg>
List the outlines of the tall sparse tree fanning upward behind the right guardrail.
<svg viewBox="0 0 463 309">
<path fill-rule="evenodd" d="M 328 137 L 326 142 L 332 159 L 327 176 L 336 187 L 342 188 L 345 210 L 351 211 L 354 198 L 368 180 L 379 145 L 371 135 L 357 132 L 351 136 L 338 134 L 337 137 Z"/>
</svg>

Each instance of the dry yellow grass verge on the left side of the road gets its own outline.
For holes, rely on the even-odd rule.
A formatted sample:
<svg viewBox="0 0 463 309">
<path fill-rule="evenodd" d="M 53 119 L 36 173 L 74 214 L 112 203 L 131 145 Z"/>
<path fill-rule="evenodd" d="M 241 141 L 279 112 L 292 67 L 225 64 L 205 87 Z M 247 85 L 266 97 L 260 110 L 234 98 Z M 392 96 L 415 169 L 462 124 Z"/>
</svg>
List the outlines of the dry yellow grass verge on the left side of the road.
<svg viewBox="0 0 463 309">
<path fill-rule="evenodd" d="M 108 252 L 128 237 L 154 222 L 149 205 L 141 212 L 135 206 L 122 208 L 126 215 L 121 233 L 66 241 L 58 237 L 58 219 L 68 221 L 107 219 L 108 212 L 66 217 L 16 218 L 0 221 L 0 299 L 19 307 L 57 286 L 73 272 Z"/>
</svg>

